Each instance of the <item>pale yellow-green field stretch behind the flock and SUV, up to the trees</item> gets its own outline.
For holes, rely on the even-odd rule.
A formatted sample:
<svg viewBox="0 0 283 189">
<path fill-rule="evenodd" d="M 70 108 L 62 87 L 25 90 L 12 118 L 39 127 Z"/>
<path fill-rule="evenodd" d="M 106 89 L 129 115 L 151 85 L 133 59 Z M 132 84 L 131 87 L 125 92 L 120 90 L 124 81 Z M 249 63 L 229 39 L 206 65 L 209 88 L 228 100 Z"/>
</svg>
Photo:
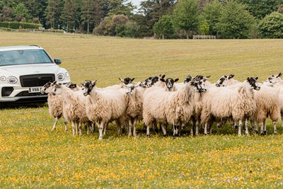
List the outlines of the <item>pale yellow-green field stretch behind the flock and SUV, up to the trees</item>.
<svg viewBox="0 0 283 189">
<path fill-rule="evenodd" d="M 16 36 L 15 36 L 16 35 Z M 40 45 L 62 59 L 75 83 L 98 80 L 98 86 L 119 83 L 118 77 L 166 74 L 181 81 L 188 74 L 224 74 L 243 81 L 264 81 L 282 71 L 283 40 L 140 40 L 93 35 L 0 32 L 1 46 Z"/>
</svg>

